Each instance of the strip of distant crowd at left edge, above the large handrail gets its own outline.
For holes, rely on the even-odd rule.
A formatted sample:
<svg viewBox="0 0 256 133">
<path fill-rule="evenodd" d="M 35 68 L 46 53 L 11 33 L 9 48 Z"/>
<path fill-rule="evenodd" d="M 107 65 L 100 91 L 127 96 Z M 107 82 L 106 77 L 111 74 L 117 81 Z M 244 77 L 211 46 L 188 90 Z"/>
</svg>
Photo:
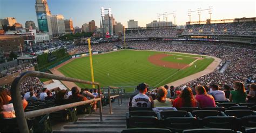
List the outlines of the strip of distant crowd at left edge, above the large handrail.
<svg viewBox="0 0 256 133">
<path fill-rule="evenodd" d="M 11 75 L 12 73 L 15 73 L 15 72 L 21 72 L 22 70 L 29 69 L 31 67 L 33 67 L 33 64 L 26 63 L 26 64 L 17 65 L 16 67 L 6 68 L 3 71 L 1 71 L 0 78 L 6 75 Z"/>
</svg>

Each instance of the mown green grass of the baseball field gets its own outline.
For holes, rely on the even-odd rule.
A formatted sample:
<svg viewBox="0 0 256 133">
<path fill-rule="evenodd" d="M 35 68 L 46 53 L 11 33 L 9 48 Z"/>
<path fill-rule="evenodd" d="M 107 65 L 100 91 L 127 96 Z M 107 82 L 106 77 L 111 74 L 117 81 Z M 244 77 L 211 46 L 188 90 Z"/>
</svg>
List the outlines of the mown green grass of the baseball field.
<svg viewBox="0 0 256 133">
<path fill-rule="evenodd" d="M 154 65 L 147 60 L 149 56 L 159 53 L 164 52 L 120 50 L 112 53 L 93 55 L 95 82 L 99 82 L 101 86 L 137 86 L 142 82 L 150 86 L 161 86 L 202 71 L 214 61 L 213 58 L 204 58 L 194 63 L 197 65 L 197 68 L 194 68 L 194 65 L 192 65 L 191 67 L 178 71 L 178 69 Z M 201 55 L 170 54 L 175 55 L 165 57 L 162 60 L 189 64 L 196 60 L 191 57 L 201 57 Z M 176 59 L 173 57 L 176 57 Z M 183 60 L 177 60 L 177 58 L 183 58 Z M 66 77 L 91 81 L 89 57 L 77 58 L 58 70 Z M 77 85 L 80 87 L 91 87 L 79 83 Z"/>
</svg>

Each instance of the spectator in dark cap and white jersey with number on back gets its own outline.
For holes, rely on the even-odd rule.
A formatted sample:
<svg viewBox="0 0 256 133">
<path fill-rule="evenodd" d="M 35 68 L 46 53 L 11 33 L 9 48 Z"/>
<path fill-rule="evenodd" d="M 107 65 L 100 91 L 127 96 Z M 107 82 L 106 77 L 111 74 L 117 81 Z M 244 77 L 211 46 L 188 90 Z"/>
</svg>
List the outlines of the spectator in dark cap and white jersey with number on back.
<svg viewBox="0 0 256 133">
<path fill-rule="evenodd" d="M 132 98 L 132 107 L 145 107 L 145 108 L 151 108 L 151 101 L 147 95 L 147 84 L 141 83 L 137 86 L 139 94 L 135 95 Z"/>
</svg>

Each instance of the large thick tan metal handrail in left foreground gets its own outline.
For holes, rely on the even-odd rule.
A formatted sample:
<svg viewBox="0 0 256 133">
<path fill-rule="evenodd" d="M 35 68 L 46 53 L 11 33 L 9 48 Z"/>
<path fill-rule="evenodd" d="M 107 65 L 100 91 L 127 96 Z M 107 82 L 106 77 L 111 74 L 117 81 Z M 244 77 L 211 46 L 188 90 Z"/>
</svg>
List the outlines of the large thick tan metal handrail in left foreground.
<svg viewBox="0 0 256 133">
<path fill-rule="evenodd" d="M 76 83 L 83 83 L 83 84 L 91 84 L 91 85 L 97 85 L 98 87 L 98 92 L 100 92 L 100 85 L 99 83 L 95 83 L 95 82 L 89 82 L 86 80 L 82 80 L 82 79 L 75 79 L 75 78 L 69 78 L 69 77 L 63 77 L 63 76 L 57 76 L 57 75 L 52 75 L 50 73 L 44 73 L 44 72 L 39 72 L 39 71 L 26 71 L 21 73 L 19 76 L 17 76 L 14 81 L 11 84 L 11 98 L 12 98 L 12 103 L 14 104 L 14 110 L 15 110 L 15 114 L 16 114 L 16 119 L 18 121 L 18 128 L 19 131 L 22 133 L 25 132 L 29 132 L 29 128 L 28 128 L 28 124 L 26 122 L 26 118 L 27 117 L 35 117 L 35 116 L 40 116 L 42 114 L 45 113 L 51 113 L 52 110 L 53 111 L 57 111 L 57 108 L 72 108 L 72 107 L 76 107 L 79 105 L 83 105 L 85 103 L 90 103 L 88 100 L 86 101 L 82 101 L 82 102 L 75 102 L 72 104 L 67 104 L 67 105 L 60 105 L 60 106 L 56 106 L 56 107 L 51 107 L 51 108 L 45 108 L 45 109 L 39 109 L 39 110 L 35 110 L 32 111 L 31 113 L 24 113 L 24 109 L 23 109 L 23 104 L 22 104 L 22 99 L 21 99 L 21 94 L 19 91 L 19 86 L 22 83 L 22 80 L 24 80 L 26 77 L 38 77 L 38 78 L 48 78 L 48 79 L 57 79 L 57 80 L 64 80 L 64 81 L 68 81 L 68 82 L 76 82 Z M 102 119 L 102 100 L 100 98 L 100 93 L 98 93 L 98 97 L 99 97 L 99 115 L 100 115 L 100 121 L 103 121 Z M 98 99 L 97 99 L 98 100 Z M 91 102 L 96 101 L 96 99 L 91 100 Z M 36 114 L 33 114 L 36 113 Z"/>
</svg>

